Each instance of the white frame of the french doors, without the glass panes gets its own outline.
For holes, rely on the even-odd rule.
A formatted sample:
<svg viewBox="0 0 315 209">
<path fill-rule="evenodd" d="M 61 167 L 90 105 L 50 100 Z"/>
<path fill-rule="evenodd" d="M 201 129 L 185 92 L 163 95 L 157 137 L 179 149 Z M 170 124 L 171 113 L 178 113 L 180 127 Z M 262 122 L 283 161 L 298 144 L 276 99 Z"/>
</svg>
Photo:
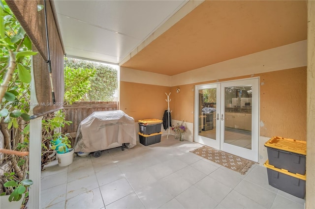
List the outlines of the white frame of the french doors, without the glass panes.
<svg viewBox="0 0 315 209">
<path fill-rule="evenodd" d="M 224 102 L 224 87 L 237 85 L 252 85 L 252 149 L 246 149 L 224 143 L 224 118 L 225 104 Z M 220 120 L 217 120 L 217 140 L 209 139 L 198 134 L 199 126 L 199 90 L 217 87 L 217 113 L 220 113 Z M 221 95 L 219 95 L 220 93 Z M 211 84 L 195 85 L 195 107 L 194 107 L 194 141 L 206 146 L 210 146 L 227 153 L 231 153 L 240 157 L 258 162 L 258 147 L 259 147 L 259 78 L 246 78 L 238 80 L 230 80 Z M 218 104 L 219 103 L 219 104 Z M 197 105 L 198 104 L 198 105 Z M 218 108 L 219 106 L 219 108 Z M 222 115 L 223 114 L 223 115 Z M 215 117 L 215 116 L 214 116 Z M 222 117 L 222 118 L 221 118 Z M 219 134 L 219 135 L 218 135 Z"/>
</svg>

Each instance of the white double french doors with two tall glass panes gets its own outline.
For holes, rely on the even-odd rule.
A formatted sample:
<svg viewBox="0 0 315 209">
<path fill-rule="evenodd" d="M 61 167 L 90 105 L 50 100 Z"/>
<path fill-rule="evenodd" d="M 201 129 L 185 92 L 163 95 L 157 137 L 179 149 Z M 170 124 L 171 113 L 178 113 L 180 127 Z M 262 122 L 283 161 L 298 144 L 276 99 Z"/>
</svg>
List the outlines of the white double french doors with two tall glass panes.
<svg viewBox="0 0 315 209">
<path fill-rule="evenodd" d="M 196 142 L 258 161 L 259 79 L 195 86 Z"/>
</svg>

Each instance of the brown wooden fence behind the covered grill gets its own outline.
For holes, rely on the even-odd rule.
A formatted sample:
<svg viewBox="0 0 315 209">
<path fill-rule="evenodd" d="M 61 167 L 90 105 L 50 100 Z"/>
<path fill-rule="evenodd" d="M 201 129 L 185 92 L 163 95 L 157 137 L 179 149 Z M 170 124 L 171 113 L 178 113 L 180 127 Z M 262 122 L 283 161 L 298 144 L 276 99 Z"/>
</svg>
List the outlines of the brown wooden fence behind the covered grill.
<svg viewBox="0 0 315 209">
<path fill-rule="evenodd" d="M 117 110 L 118 105 L 118 102 L 75 102 L 70 105 L 63 105 L 65 119 L 72 121 L 72 123 L 69 126 L 65 125 L 62 132 L 69 133 L 74 140 L 81 121 L 95 111 Z M 71 143 L 73 143 L 72 140 Z"/>
</svg>

